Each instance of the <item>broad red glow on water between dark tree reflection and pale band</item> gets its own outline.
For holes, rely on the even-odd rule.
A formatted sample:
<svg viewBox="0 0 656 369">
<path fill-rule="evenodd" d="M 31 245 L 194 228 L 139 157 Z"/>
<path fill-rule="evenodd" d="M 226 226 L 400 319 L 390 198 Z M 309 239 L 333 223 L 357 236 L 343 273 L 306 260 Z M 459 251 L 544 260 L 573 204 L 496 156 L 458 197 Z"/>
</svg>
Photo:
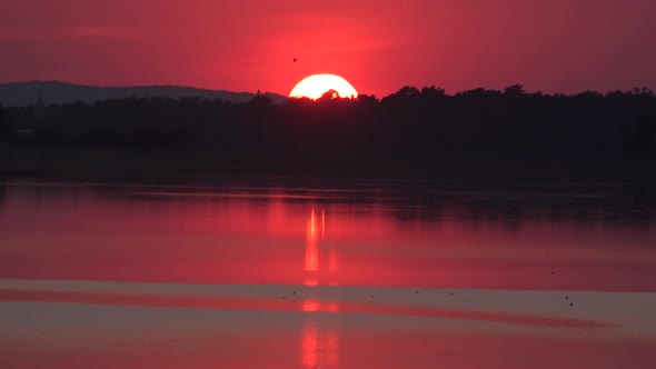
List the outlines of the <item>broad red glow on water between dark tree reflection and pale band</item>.
<svg viewBox="0 0 656 369">
<path fill-rule="evenodd" d="M 648 282 L 656 267 L 645 247 L 656 239 L 650 229 L 404 219 L 385 203 L 319 203 L 320 193 L 137 195 L 126 200 L 80 191 L 39 202 L 9 192 L 0 208 L 0 278 L 656 288 Z"/>
</svg>

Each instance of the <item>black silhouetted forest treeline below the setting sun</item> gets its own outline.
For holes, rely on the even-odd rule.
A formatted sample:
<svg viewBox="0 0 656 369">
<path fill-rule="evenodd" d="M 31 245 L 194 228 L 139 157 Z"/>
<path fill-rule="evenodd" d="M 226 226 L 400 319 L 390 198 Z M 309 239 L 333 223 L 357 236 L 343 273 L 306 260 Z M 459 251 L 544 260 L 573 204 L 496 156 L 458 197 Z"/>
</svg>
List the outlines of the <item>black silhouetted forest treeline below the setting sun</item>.
<svg viewBox="0 0 656 369">
<path fill-rule="evenodd" d="M 382 99 L 275 104 L 201 98 L 127 98 L 0 108 L 0 141 L 20 149 L 175 152 L 222 163 L 425 170 L 434 162 L 656 159 L 656 97 L 648 89 L 602 94 L 526 92 L 521 84 L 448 94 L 404 87 Z M 603 169 L 602 169 L 603 170 Z"/>
</svg>

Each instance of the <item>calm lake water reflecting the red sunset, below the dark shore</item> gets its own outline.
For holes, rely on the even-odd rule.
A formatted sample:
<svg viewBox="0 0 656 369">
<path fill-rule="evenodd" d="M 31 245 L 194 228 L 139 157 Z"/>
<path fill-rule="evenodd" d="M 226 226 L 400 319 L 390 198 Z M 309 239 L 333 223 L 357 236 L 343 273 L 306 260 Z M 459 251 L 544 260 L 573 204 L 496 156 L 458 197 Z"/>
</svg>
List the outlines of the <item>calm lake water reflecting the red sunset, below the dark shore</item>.
<svg viewBox="0 0 656 369">
<path fill-rule="evenodd" d="M 0 367 L 650 368 L 653 191 L 0 182 Z"/>
</svg>

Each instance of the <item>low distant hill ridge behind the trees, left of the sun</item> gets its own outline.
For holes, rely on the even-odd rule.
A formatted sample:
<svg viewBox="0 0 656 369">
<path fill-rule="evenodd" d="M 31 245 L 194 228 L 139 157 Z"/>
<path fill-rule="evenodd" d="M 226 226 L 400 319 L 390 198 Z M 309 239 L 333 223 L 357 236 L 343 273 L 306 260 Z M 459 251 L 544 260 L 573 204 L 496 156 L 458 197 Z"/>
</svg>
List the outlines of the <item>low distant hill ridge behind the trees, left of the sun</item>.
<svg viewBox="0 0 656 369">
<path fill-rule="evenodd" d="M 282 103 L 287 97 L 266 92 L 274 103 Z M 34 103 L 39 97 L 47 104 L 68 103 L 76 100 L 93 103 L 101 100 L 137 98 L 202 98 L 220 99 L 231 102 L 246 102 L 255 97 L 251 92 L 231 92 L 223 90 L 205 90 L 179 86 L 142 86 L 142 87 L 96 87 L 71 84 L 58 81 L 29 81 L 18 83 L 0 83 L 0 106 L 24 107 Z"/>
</svg>

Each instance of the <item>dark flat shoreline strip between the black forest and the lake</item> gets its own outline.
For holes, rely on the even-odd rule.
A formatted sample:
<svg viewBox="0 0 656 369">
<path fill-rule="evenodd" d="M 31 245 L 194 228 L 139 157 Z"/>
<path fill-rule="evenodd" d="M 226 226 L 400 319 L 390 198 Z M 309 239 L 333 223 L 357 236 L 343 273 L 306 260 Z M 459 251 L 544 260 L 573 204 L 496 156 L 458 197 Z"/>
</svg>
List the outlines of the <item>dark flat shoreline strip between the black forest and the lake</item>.
<svg viewBox="0 0 656 369">
<path fill-rule="evenodd" d="M 589 158 L 505 159 L 447 157 L 213 158 L 186 150 L 109 150 L 0 146 L 0 177 L 211 181 L 223 178 L 593 182 L 653 184 L 656 162 Z"/>
</svg>

